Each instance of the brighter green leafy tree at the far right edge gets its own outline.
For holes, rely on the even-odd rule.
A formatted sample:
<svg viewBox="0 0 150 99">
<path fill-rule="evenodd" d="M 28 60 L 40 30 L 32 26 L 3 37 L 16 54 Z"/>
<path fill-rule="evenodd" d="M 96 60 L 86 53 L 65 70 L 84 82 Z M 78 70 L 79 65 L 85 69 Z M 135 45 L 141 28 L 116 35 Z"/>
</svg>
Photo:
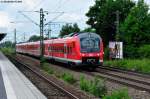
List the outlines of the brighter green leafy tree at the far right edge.
<svg viewBox="0 0 150 99">
<path fill-rule="evenodd" d="M 149 6 L 139 0 L 120 27 L 122 39 L 127 45 L 150 44 Z"/>
</svg>

